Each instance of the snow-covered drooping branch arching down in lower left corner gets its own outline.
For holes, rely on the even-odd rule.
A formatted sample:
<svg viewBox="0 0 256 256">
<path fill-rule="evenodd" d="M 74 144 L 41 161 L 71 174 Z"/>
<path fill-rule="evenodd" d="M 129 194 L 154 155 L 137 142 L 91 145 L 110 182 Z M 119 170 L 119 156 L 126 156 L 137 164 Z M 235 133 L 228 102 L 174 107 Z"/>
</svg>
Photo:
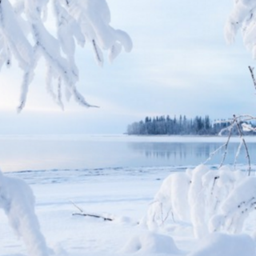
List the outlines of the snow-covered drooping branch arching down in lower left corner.
<svg viewBox="0 0 256 256">
<path fill-rule="evenodd" d="M 30 256 L 49 255 L 34 212 L 34 194 L 26 182 L 6 177 L 0 171 L 0 207 L 14 232 L 22 237 Z"/>
</svg>

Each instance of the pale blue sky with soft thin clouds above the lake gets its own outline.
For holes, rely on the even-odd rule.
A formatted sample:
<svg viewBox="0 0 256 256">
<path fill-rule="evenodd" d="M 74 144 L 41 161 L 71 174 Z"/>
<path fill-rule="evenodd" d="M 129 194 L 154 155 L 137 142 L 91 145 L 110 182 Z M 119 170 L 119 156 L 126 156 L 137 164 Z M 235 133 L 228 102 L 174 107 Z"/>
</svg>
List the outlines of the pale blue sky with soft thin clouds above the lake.
<svg viewBox="0 0 256 256">
<path fill-rule="evenodd" d="M 146 116 L 254 114 L 256 96 L 238 38 L 227 46 L 224 25 L 232 0 L 108 0 L 114 28 L 134 42 L 130 54 L 100 68 L 90 46 L 78 50 L 78 89 L 99 109 L 66 102 L 63 112 L 47 95 L 38 66 L 26 108 L 16 114 L 22 74 L 0 74 L 0 134 L 122 133 Z M 14 75 L 15 74 L 15 75 Z"/>
</svg>

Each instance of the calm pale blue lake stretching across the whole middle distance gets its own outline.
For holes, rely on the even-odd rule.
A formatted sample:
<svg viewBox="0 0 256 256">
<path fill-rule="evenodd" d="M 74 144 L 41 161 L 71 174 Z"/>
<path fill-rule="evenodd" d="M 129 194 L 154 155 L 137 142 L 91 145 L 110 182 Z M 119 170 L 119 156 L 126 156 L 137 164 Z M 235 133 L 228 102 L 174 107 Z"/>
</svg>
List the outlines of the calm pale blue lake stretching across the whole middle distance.
<svg viewBox="0 0 256 256">
<path fill-rule="evenodd" d="M 248 137 L 246 141 L 254 165 L 256 138 Z M 2 135 L 0 166 L 3 171 L 197 166 L 225 142 L 225 137 Z M 232 138 L 226 164 L 234 163 L 238 145 L 239 138 Z M 223 152 L 219 150 L 207 163 L 218 165 Z M 243 149 L 237 162 L 247 162 Z"/>
</svg>

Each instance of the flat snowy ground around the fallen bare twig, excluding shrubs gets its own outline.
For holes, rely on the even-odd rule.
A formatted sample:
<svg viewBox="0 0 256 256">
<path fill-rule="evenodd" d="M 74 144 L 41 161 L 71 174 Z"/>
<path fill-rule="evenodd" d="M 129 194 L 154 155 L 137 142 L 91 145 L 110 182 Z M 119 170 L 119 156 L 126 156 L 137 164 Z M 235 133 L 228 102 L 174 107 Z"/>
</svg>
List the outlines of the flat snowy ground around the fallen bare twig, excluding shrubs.
<svg viewBox="0 0 256 256">
<path fill-rule="evenodd" d="M 172 223 L 162 229 L 162 234 L 174 238 L 179 250 L 174 250 L 160 238 L 154 246 L 154 235 L 138 222 L 145 216 L 154 194 L 170 173 L 185 171 L 186 167 L 116 168 L 98 170 L 46 170 L 23 171 L 6 174 L 18 177 L 30 184 L 36 197 L 36 213 L 42 234 L 54 254 L 68 256 L 114 255 L 189 255 L 200 241 L 193 236 L 190 225 Z M 246 169 L 246 166 L 245 166 Z M 114 218 L 114 222 L 98 218 L 72 215 L 79 210 Z M 254 215 L 255 217 L 255 215 Z M 253 234 L 256 219 L 250 219 L 248 233 Z M 0 212 L 0 255 L 25 256 L 26 248 L 8 225 Z M 153 237 L 152 237 L 153 235 Z M 143 250 L 138 250 L 138 237 L 144 238 Z M 137 239 L 137 240 L 136 240 Z M 225 238 L 224 238 L 225 240 Z M 133 242 L 132 242 L 133 241 Z M 239 240 L 240 241 L 240 240 Z M 143 243 L 143 242 L 142 242 Z M 135 252 L 138 250 L 138 252 Z M 218 254 L 191 254 L 218 256 Z M 238 254 L 234 254 L 237 256 Z M 245 254 L 248 256 L 248 254 Z M 233 255 L 229 255 L 233 256 Z M 242 255 L 241 255 L 242 256 Z M 254 256 L 254 254 L 249 254 Z"/>
</svg>

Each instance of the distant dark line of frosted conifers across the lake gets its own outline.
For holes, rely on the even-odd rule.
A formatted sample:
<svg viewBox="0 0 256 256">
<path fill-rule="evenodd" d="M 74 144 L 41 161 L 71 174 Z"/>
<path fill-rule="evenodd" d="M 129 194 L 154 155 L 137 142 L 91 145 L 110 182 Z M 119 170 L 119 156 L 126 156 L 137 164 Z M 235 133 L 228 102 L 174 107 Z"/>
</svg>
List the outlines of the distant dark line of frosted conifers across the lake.
<svg viewBox="0 0 256 256">
<path fill-rule="evenodd" d="M 154 118 L 146 117 L 144 121 L 133 122 L 127 127 L 127 134 L 136 135 L 215 135 L 222 129 L 230 126 L 230 120 L 218 119 L 210 121 L 209 115 L 205 117 L 196 116 L 186 118 L 180 115 L 178 118 L 167 116 L 157 116 Z M 250 125 L 252 125 L 250 123 Z M 253 125 L 252 125 L 253 126 Z M 226 131 L 228 133 L 228 131 Z M 234 129 L 233 134 L 238 134 Z M 245 134 L 255 134 L 252 131 Z"/>
</svg>

